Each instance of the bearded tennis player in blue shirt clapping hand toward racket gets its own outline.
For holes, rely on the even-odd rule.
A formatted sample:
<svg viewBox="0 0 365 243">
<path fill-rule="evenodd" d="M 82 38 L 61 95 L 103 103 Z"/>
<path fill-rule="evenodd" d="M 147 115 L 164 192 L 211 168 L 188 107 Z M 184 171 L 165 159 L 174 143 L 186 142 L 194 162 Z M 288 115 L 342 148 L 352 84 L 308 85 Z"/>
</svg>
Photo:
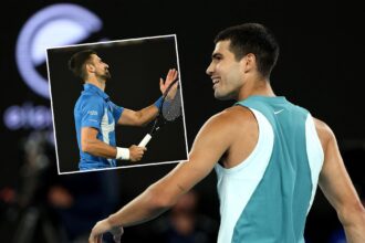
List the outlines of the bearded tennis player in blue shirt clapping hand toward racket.
<svg viewBox="0 0 365 243">
<path fill-rule="evenodd" d="M 84 82 L 84 91 L 74 107 L 80 170 L 113 168 L 117 159 L 140 160 L 146 148 L 135 145 L 129 148 L 117 147 L 115 125 L 148 124 L 157 116 L 161 98 L 137 112 L 114 104 L 104 93 L 106 81 L 111 78 L 108 65 L 93 50 L 72 55 L 69 68 Z M 166 82 L 160 78 L 161 93 L 176 77 L 177 71 L 169 70 Z"/>
</svg>

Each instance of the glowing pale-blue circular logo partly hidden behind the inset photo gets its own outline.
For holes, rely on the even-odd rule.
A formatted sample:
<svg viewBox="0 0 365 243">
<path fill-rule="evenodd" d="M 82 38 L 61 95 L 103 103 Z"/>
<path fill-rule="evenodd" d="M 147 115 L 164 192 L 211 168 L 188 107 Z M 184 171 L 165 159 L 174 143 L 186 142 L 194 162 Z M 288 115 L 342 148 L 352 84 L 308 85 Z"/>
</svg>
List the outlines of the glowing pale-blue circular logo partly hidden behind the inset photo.
<svg viewBox="0 0 365 243">
<path fill-rule="evenodd" d="M 97 15 L 76 4 L 53 4 L 34 13 L 21 29 L 15 50 L 18 70 L 25 84 L 50 98 L 49 82 L 36 70 L 45 62 L 45 50 L 76 44 L 102 25 Z"/>
</svg>

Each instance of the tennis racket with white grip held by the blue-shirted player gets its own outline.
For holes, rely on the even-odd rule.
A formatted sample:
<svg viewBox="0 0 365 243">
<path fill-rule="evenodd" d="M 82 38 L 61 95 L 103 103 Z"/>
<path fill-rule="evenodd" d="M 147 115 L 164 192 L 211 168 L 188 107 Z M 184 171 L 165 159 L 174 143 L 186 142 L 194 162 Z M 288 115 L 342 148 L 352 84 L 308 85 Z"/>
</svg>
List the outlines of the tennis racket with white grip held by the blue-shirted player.
<svg viewBox="0 0 365 243">
<path fill-rule="evenodd" d="M 177 83 L 177 84 L 176 84 Z M 176 88 L 174 85 L 177 85 Z M 146 147 L 153 135 L 166 123 L 174 122 L 181 115 L 181 96 L 178 78 L 166 88 L 163 94 L 163 102 L 158 108 L 158 115 L 155 118 L 150 131 L 142 139 L 139 147 Z"/>
</svg>

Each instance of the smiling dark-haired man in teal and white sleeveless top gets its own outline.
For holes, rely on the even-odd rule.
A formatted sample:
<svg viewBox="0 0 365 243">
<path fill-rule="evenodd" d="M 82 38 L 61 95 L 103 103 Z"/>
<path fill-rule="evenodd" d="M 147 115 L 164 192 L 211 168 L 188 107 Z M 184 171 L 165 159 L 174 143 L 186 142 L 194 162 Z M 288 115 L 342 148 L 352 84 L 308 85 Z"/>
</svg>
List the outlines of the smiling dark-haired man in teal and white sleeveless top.
<svg viewBox="0 0 365 243">
<path fill-rule="evenodd" d="M 244 23 L 220 32 L 207 74 L 215 97 L 237 103 L 212 116 L 189 160 L 118 212 L 96 223 L 90 242 L 158 216 L 215 168 L 221 223 L 218 242 L 304 242 L 317 184 L 337 211 L 348 242 L 365 242 L 365 211 L 331 128 L 277 96 L 270 73 L 279 56 L 273 34 Z"/>
</svg>

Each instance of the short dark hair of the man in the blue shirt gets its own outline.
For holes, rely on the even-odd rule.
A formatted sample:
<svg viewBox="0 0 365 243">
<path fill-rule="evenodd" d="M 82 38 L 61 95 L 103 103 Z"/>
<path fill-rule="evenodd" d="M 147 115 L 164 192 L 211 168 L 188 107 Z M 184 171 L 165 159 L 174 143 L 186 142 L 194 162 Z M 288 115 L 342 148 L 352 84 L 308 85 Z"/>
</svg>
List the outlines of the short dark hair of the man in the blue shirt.
<svg viewBox="0 0 365 243">
<path fill-rule="evenodd" d="M 82 81 L 86 80 L 85 64 L 91 59 L 92 54 L 96 54 L 94 50 L 84 50 L 73 54 L 69 61 L 69 70 Z"/>
</svg>

